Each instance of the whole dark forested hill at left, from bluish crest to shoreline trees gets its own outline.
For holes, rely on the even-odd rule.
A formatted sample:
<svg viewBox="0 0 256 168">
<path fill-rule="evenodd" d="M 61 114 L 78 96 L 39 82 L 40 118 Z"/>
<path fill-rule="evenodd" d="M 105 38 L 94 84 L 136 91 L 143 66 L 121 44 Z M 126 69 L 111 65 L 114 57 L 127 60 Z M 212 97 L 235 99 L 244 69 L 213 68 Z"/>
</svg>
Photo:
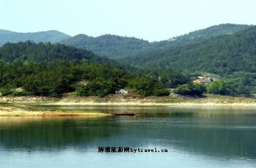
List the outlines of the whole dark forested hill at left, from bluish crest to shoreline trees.
<svg viewBox="0 0 256 168">
<path fill-rule="evenodd" d="M 61 96 L 76 91 L 79 96 L 105 96 L 116 89 L 131 88 L 139 95 L 161 96 L 169 94 L 168 86 L 188 81 L 177 72 L 122 70 L 106 57 L 60 44 L 6 43 L 0 48 L 0 60 L 3 95 Z"/>
</svg>

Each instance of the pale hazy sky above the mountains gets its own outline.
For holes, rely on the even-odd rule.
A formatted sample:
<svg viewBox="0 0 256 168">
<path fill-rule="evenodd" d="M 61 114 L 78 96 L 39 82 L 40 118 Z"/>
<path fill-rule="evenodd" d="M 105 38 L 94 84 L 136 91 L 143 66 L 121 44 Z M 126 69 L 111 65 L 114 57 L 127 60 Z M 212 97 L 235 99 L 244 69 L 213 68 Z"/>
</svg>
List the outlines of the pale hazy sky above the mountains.
<svg viewBox="0 0 256 168">
<path fill-rule="evenodd" d="M 1 0 L 0 29 L 145 40 L 221 23 L 256 24 L 255 0 Z"/>
</svg>

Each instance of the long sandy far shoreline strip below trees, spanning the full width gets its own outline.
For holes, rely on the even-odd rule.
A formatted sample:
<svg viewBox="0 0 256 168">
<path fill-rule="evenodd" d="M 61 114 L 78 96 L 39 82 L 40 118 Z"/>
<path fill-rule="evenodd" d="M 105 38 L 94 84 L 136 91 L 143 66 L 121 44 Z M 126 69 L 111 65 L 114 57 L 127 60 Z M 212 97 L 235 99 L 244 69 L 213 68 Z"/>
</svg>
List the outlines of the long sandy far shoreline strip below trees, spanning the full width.
<svg viewBox="0 0 256 168">
<path fill-rule="evenodd" d="M 62 98 L 42 96 L 3 96 L 1 103 L 19 105 L 56 105 L 56 106 L 175 106 L 175 107 L 256 107 L 256 98 L 204 95 L 196 98 L 184 95 L 132 97 L 129 95 L 108 95 L 104 98 L 97 96 L 79 97 L 67 93 Z M 28 107 L 28 106 L 27 106 Z M 23 108 L 24 110 L 26 108 Z M 31 109 L 26 109 L 27 111 Z M 47 111 L 47 109 L 45 109 Z M 0 108 L 1 112 L 1 108 Z M 51 113 L 51 111 L 49 112 Z M 1 114 L 0 114 L 1 115 Z M 46 114 L 45 114 L 46 115 Z M 47 114 L 50 115 L 50 114 Z M 60 114 L 61 115 L 61 114 Z M 74 114 L 75 115 L 75 114 Z"/>
</svg>

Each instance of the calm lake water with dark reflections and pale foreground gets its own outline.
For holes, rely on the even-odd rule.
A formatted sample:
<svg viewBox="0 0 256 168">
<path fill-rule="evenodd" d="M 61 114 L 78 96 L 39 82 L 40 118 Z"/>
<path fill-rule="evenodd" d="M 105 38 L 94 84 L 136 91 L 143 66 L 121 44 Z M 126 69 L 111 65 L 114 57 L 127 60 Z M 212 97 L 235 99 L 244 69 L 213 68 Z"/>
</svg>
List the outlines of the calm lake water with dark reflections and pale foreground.
<svg viewBox="0 0 256 168">
<path fill-rule="evenodd" d="M 61 108 L 139 114 L 0 118 L 0 167 L 256 167 L 254 109 Z M 99 147 L 156 148 L 157 152 L 99 153 Z"/>
</svg>

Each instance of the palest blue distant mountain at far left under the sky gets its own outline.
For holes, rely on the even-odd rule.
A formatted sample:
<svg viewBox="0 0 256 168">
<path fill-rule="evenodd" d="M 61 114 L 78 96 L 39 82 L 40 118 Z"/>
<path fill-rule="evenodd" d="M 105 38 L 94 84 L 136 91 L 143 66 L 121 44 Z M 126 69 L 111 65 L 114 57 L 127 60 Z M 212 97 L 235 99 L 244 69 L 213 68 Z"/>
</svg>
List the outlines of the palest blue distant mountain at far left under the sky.
<svg viewBox="0 0 256 168">
<path fill-rule="evenodd" d="M 13 31 L 0 30 L 0 45 L 11 42 L 25 42 L 31 40 L 35 43 L 38 42 L 51 42 L 56 43 L 61 40 L 70 38 L 69 35 L 61 33 L 60 31 L 40 31 L 36 33 L 17 33 Z"/>
</svg>

